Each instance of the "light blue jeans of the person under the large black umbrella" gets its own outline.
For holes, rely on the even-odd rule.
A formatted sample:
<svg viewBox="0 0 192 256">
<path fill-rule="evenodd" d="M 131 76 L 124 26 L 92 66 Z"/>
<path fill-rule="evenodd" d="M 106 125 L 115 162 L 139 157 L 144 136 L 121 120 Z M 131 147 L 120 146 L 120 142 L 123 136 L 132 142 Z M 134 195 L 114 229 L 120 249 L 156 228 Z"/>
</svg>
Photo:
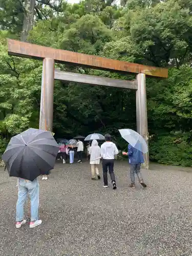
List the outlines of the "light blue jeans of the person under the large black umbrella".
<svg viewBox="0 0 192 256">
<path fill-rule="evenodd" d="M 39 183 L 35 179 L 28 181 L 20 179 L 18 181 L 18 200 L 16 204 L 16 222 L 24 219 L 24 204 L 27 201 L 27 196 L 31 199 L 31 221 L 38 220 L 39 207 Z"/>
</svg>

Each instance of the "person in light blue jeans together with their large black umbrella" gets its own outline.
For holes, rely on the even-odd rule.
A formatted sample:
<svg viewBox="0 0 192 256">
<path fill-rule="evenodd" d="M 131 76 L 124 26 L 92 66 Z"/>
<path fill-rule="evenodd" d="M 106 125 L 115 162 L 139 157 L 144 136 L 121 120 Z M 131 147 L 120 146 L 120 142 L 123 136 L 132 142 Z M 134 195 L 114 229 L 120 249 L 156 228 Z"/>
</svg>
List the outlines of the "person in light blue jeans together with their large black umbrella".
<svg viewBox="0 0 192 256">
<path fill-rule="evenodd" d="M 16 228 L 26 224 L 24 204 L 29 195 L 31 200 L 30 228 L 39 226 L 38 219 L 39 183 L 37 177 L 54 168 L 58 144 L 51 132 L 28 129 L 11 138 L 2 159 L 10 177 L 18 178 L 16 204 Z"/>
</svg>

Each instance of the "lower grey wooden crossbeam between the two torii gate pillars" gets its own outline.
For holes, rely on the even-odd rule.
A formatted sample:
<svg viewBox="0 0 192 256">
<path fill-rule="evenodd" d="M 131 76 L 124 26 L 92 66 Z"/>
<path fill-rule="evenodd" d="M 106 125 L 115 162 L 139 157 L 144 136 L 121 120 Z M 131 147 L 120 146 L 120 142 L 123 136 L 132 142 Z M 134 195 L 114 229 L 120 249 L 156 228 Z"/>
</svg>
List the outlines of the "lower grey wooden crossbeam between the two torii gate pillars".
<svg viewBox="0 0 192 256">
<path fill-rule="evenodd" d="M 80 82 L 84 84 L 93 84 L 95 86 L 110 86 L 137 90 L 137 80 L 127 81 L 108 77 L 83 75 L 79 73 L 59 71 L 59 69 L 55 69 L 54 77 L 56 80 L 61 81 Z"/>
</svg>

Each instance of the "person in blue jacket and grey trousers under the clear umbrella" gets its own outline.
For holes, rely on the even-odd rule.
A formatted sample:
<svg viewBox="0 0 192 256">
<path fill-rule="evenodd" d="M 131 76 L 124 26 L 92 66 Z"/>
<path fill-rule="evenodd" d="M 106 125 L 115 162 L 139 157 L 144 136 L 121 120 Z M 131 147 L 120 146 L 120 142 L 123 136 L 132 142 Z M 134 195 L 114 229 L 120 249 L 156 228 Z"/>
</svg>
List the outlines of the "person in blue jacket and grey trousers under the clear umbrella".
<svg viewBox="0 0 192 256">
<path fill-rule="evenodd" d="M 141 186 L 146 187 L 146 184 L 143 182 L 143 178 L 141 175 L 141 164 L 144 163 L 142 152 L 137 150 L 137 148 L 133 147 L 131 144 L 129 144 L 128 153 L 123 152 L 123 155 L 127 155 L 129 157 L 130 178 L 131 178 L 131 184 L 129 186 L 132 188 L 135 188 L 135 174 L 136 174 Z"/>
</svg>

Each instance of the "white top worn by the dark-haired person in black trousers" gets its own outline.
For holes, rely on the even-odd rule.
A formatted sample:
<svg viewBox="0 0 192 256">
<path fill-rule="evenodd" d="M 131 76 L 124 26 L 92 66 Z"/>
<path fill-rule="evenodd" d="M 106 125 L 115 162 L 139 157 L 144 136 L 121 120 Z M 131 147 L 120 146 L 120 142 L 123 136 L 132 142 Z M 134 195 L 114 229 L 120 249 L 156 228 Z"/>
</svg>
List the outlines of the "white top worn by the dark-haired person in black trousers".
<svg viewBox="0 0 192 256">
<path fill-rule="evenodd" d="M 114 159 L 115 155 L 119 153 L 115 143 L 113 142 L 104 142 L 101 145 L 101 157 L 103 159 Z"/>
</svg>

